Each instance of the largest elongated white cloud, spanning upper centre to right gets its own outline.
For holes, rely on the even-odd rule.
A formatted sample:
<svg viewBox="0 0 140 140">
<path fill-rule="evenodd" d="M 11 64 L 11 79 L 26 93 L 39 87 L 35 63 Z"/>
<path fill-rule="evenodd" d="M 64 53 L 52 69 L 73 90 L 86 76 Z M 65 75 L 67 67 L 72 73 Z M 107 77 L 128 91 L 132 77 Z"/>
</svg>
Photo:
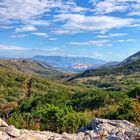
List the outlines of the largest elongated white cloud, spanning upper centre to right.
<svg viewBox="0 0 140 140">
<path fill-rule="evenodd" d="M 56 22 L 65 22 L 63 30 L 56 33 L 72 33 L 79 31 L 104 31 L 131 25 L 135 20 L 113 16 L 85 16 L 82 14 L 60 14 L 55 17 Z"/>
</svg>

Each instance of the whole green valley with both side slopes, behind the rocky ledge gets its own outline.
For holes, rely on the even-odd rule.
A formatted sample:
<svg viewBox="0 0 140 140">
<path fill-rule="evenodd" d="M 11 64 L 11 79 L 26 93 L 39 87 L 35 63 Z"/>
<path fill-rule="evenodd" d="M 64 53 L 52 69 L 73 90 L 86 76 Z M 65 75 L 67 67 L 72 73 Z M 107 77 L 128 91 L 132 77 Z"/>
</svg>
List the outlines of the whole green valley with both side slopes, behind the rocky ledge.
<svg viewBox="0 0 140 140">
<path fill-rule="evenodd" d="M 139 70 L 139 60 L 78 74 L 32 59 L 0 60 L 0 117 L 16 128 L 57 133 L 77 132 L 93 117 L 139 126 Z"/>
</svg>

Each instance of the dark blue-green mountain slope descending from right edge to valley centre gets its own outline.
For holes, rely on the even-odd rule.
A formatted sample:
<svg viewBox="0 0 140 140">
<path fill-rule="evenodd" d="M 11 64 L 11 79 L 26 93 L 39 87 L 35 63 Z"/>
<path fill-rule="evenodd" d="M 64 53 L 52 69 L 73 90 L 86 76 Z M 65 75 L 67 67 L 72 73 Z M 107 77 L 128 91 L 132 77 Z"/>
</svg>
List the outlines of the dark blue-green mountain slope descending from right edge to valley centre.
<svg viewBox="0 0 140 140">
<path fill-rule="evenodd" d="M 87 70 L 75 77 L 70 78 L 69 80 L 92 76 L 127 75 L 135 72 L 140 72 L 140 52 L 128 57 L 116 66 Z"/>
</svg>

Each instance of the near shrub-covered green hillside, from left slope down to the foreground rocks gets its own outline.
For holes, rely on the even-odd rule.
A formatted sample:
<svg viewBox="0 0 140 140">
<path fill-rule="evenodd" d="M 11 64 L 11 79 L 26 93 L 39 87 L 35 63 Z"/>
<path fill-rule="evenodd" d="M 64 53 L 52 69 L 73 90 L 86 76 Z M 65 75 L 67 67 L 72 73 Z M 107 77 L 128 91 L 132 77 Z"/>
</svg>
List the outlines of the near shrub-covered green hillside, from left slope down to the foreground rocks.
<svg viewBox="0 0 140 140">
<path fill-rule="evenodd" d="M 139 93 L 136 85 L 107 91 L 0 68 L 0 117 L 18 128 L 73 133 L 93 117 L 127 119 L 139 125 Z"/>
</svg>

